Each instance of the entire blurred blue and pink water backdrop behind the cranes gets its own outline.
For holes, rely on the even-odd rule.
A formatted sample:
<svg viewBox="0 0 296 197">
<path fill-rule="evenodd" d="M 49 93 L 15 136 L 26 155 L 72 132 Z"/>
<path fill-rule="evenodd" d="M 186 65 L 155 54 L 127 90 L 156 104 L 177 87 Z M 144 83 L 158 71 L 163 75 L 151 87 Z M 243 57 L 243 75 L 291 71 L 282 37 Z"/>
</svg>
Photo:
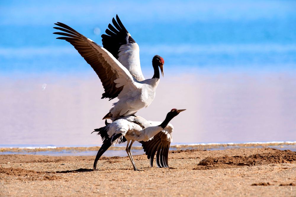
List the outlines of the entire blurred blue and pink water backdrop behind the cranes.
<svg viewBox="0 0 296 197">
<path fill-rule="evenodd" d="M 146 78 L 165 60 L 154 102 L 173 143 L 296 141 L 296 1 L 0 1 L 0 146 L 94 146 L 112 101 L 63 22 L 102 45 L 112 17 L 139 44 Z"/>
</svg>

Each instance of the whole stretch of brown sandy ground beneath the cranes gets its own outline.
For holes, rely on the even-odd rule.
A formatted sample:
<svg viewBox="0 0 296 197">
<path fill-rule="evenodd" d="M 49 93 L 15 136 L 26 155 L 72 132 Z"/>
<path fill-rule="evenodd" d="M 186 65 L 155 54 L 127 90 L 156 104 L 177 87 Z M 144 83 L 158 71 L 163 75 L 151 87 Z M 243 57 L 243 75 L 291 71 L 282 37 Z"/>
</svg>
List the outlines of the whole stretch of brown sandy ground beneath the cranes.
<svg viewBox="0 0 296 197">
<path fill-rule="evenodd" d="M 0 155 L 0 196 L 296 196 L 296 152 L 171 151 L 170 168 L 128 157 Z"/>
</svg>

